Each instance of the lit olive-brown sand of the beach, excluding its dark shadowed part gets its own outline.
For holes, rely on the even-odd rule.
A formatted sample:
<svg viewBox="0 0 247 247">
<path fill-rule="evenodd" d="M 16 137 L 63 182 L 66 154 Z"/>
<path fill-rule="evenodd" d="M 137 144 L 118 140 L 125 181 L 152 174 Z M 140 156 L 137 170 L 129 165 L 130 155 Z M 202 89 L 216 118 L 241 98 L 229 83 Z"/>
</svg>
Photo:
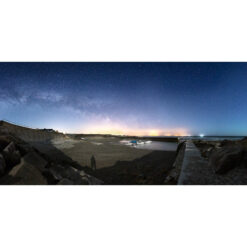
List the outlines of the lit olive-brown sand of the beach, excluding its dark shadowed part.
<svg viewBox="0 0 247 247">
<path fill-rule="evenodd" d="M 94 155 L 97 169 L 113 166 L 117 161 L 132 161 L 152 152 L 121 145 L 119 139 L 114 137 L 89 137 L 86 140 L 68 138 L 32 145 L 52 159 L 64 160 L 66 156 L 81 166 L 90 166 L 90 159 Z"/>
</svg>

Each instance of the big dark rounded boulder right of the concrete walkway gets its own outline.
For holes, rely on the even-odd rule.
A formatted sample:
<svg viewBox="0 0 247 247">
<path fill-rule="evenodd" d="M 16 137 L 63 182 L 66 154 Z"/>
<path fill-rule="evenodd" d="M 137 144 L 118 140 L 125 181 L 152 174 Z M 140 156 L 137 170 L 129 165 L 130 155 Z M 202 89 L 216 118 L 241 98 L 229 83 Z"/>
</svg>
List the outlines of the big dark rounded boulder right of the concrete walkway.
<svg viewBox="0 0 247 247">
<path fill-rule="evenodd" d="M 243 148 L 241 146 L 220 148 L 212 152 L 209 165 L 213 167 L 215 173 L 223 174 L 240 165 L 242 158 Z"/>
</svg>

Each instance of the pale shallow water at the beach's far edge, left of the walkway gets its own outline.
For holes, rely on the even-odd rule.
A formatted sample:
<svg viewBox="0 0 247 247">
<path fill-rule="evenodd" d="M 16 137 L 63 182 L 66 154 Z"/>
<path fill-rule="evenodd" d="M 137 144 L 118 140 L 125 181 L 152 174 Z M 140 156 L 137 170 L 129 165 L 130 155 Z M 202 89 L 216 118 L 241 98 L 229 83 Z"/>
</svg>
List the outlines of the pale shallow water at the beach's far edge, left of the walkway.
<svg viewBox="0 0 247 247">
<path fill-rule="evenodd" d="M 177 143 L 174 142 L 152 141 L 148 143 L 146 142 L 145 144 L 142 142 L 141 144 L 138 144 L 137 142 L 137 145 L 132 144 L 130 141 L 121 141 L 120 143 L 137 149 L 149 149 L 149 150 L 160 150 L 160 151 L 176 151 L 177 149 Z"/>
</svg>

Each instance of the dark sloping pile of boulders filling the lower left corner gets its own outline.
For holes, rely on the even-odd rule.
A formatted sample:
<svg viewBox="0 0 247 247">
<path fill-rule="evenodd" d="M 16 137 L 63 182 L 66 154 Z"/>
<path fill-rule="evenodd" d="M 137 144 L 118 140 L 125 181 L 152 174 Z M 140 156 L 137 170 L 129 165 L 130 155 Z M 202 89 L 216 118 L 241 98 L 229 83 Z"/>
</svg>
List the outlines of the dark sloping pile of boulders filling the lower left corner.
<svg viewBox="0 0 247 247">
<path fill-rule="evenodd" d="M 6 132 L 6 131 L 5 131 Z M 0 184 L 2 185 L 98 185 L 103 182 L 73 162 L 52 162 L 30 144 L 11 133 L 0 132 Z"/>
</svg>

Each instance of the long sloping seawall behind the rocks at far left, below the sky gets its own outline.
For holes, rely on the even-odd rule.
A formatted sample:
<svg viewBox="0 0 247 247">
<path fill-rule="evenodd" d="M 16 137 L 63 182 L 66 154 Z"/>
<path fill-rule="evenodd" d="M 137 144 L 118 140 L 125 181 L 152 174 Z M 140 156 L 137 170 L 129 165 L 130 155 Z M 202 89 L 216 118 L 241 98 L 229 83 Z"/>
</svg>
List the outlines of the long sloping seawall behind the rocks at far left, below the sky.
<svg viewBox="0 0 247 247">
<path fill-rule="evenodd" d="M 3 134 L 13 134 L 26 142 L 48 142 L 54 139 L 65 138 L 65 135 L 62 133 L 22 127 L 6 121 L 0 121 L 0 132 Z"/>
</svg>

